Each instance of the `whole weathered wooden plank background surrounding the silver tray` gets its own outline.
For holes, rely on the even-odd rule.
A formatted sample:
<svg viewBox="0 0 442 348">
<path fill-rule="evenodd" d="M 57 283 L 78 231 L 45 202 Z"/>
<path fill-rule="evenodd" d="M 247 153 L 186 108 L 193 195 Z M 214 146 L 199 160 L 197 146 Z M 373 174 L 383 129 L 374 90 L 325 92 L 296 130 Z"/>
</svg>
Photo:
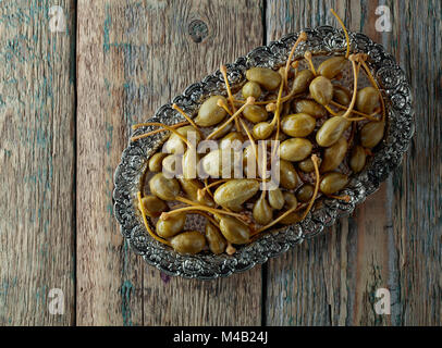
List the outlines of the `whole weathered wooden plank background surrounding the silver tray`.
<svg viewBox="0 0 442 348">
<path fill-rule="evenodd" d="M 378 4 L 391 33 L 376 32 Z M 337 25 L 330 8 L 409 78 L 417 132 L 401 167 L 353 216 L 247 273 L 145 265 L 112 211 L 130 126 L 221 62 Z M 0 1 L 0 325 L 441 325 L 441 15 L 440 0 Z M 391 315 L 373 310 L 380 287 Z"/>
</svg>

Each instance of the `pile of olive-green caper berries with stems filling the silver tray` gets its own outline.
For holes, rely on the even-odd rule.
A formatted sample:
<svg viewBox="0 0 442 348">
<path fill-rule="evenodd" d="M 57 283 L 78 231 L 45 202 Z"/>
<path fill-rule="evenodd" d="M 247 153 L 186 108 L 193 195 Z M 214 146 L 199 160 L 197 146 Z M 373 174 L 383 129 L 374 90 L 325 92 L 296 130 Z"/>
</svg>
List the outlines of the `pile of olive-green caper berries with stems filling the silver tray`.
<svg viewBox="0 0 442 348">
<path fill-rule="evenodd" d="M 321 196 L 348 198 L 340 196 L 340 191 L 352 173 L 364 170 L 367 158 L 383 138 L 383 101 L 372 84 L 355 88 L 356 95 L 351 90 L 358 74 L 369 74 L 360 67 L 366 57 L 331 55 L 317 69 L 310 58 L 306 54 L 291 62 L 288 70 L 251 67 L 237 90 L 207 98 L 197 115 L 180 127 L 167 129 L 169 153 L 150 157 L 145 176 L 149 177 L 149 194 L 139 195 L 138 206 L 146 227 L 157 240 L 184 254 L 208 250 L 214 254 L 233 253 L 235 246 L 251 243 L 270 227 L 299 222 Z M 348 88 L 343 86 L 342 76 L 352 67 L 354 85 Z M 224 83 L 229 84 L 225 75 Z M 205 129 L 209 136 L 201 132 Z M 197 141 L 219 141 L 218 150 L 200 156 L 201 165 L 212 177 L 221 176 L 220 158 L 228 140 L 278 138 L 280 186 L 265 191 L 255 178 L 186 178 L 188 145 L 184 140 L 189 132 L 196 132 Z M 183 177 L 167 178 L 164 166 L 183 148 Z M 255 153 L 253 146 L 245 148 L 245 163 L 256 161 Z M 206 219 L 204 232 L 185 231 L 188 214 Z"/>
</svg>

